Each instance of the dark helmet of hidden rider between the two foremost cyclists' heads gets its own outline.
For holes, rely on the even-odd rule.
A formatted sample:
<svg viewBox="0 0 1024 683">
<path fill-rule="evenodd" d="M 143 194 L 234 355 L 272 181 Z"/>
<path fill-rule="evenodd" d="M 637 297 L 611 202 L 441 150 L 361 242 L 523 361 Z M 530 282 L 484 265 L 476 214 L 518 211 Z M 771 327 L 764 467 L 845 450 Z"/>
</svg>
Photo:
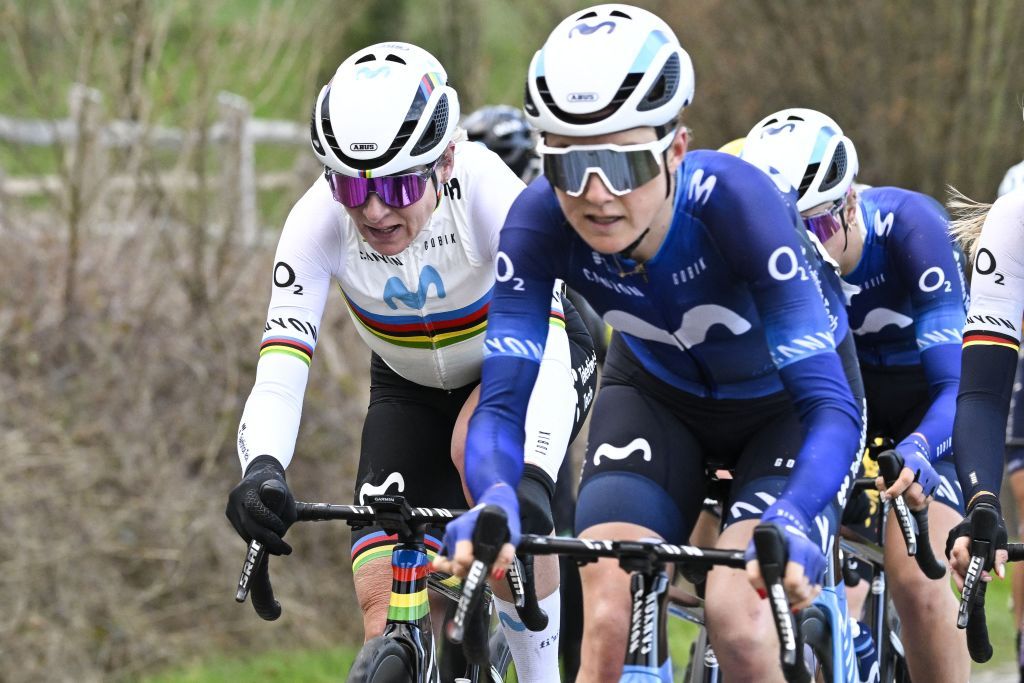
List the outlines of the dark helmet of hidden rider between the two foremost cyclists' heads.
<svg viewBox="0 0 1024 683">
<path fill-rule="evenodd" d="M 523 182 L 529 182 L 540 173 L 534 154 L 536 134 L 522 110 L 508 104 L 481 106 L 463 120 L 462 127 L 470 141 L 479 142 L 501 157 Z"/>
</svg>

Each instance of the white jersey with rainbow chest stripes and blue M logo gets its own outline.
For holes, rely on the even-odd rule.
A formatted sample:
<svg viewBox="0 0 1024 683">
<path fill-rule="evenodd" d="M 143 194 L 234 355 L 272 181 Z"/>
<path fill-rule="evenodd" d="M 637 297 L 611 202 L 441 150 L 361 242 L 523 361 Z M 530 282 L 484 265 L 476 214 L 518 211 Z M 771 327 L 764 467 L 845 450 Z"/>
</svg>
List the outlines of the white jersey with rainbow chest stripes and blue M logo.
<svg viewBox="0 0 1024 683">
<path fill-rule="evenodd" d="M 494 153 L 457 143 L 453 177 L 429 221 L 404 251 L 384 256 L 359 237 L 327 180 L 313 183 L 289 214 L 274 257 L 256 384 L 239 426 L 243 470 L 259 455 L 291 461 L 332 282 L 364 341 L 401 377 L 442 389 L 479 379 L 499 233 L 523 186 Z M 564 355 L 568 377 L 560 297 L 552 308 L 562 338 L 553 353 Z M 573 391 L 571 377 L 558 399 L 565 391 Z M 566 445 L 569 428 L 571 419 Z"/>
</svg>

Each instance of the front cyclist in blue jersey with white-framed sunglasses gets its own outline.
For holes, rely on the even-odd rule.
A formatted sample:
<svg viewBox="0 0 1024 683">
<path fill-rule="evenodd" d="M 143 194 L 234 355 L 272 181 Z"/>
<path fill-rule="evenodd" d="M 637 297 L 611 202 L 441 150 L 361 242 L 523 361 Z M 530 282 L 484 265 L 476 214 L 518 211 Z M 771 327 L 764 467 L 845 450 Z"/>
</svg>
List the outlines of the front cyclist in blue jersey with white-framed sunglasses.
<svg viewBox="0 0 1024 683">
<path fill-rule="evenodd" d="M 778 524 L 785 585 L 804 606 L 824 566 L 827 533 L 815 516 L 844 497 L 860 441 L 860 410 L 836 351 L 845 339 L 855 374 L 853 342 L 842 302 L 826 307 L 830 290 L 822 292 L 805 256 L 813 248 L 771 181 L 728 155 L 686 154 L 677 119 L 692 92 L 690 59 L 672 29 L 630 5 L 573 12 L 534 56 L 524 109 L 544 134 L 545 175 L 502 230 L 467 481 L 478 503 L 508 512 L 514 544 L 511 494 L 544 345 L 540 295 L 563 278 L 616 331 L 591 421 L 578 531 L 683 542 L 706 471 L 735 469 L 719 545 L 749 548 L 759 521 Z M 474 520 L 449 526 L 454 559 L 437 564 L 468 568 Z M 729 680 L 781 680 L 753 558 L 749 569 L 708 579 L 715 651 Z M 605 560 L 583 577 L 580 679 L 616 680 L 629 577 Z M 671 664 L 646 673 L 671 680 Z"/>
</svg>

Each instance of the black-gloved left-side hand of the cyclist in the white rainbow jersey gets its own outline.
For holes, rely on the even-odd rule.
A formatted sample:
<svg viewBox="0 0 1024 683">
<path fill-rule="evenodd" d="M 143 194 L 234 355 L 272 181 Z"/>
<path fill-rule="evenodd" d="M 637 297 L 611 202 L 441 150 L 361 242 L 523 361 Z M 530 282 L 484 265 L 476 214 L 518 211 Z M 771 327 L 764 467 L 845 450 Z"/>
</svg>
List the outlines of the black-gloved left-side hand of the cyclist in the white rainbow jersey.
<svg viewBox="0 0 1024 683">
<path fill-rule="evenodd" d="M 231 526 L 246 543 L 259 541 L 271 555 L 290 555 L 282 540 L 295 521 L 295 499 L 285 481 L 285 468 L 271 456 L 259 456 L 227 495 L 224 511 Z"/>
</svg>

